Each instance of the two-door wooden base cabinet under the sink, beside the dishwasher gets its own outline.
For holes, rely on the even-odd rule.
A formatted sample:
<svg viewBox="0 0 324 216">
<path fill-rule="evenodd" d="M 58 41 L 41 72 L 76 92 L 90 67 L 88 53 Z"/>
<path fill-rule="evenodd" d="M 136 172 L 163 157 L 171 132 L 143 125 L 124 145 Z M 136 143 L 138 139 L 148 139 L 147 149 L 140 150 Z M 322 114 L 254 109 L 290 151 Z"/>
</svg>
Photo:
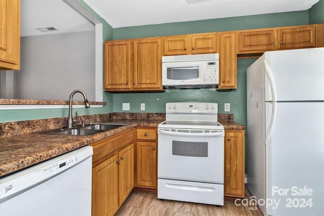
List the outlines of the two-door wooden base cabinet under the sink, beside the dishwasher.
<svg viewBox="0 0 324 216">
<path fill-rule="evenodd" d="M 92 215 L 114 215 L 134 189 L 134 131 L 92 143 Z"/>
</svg>

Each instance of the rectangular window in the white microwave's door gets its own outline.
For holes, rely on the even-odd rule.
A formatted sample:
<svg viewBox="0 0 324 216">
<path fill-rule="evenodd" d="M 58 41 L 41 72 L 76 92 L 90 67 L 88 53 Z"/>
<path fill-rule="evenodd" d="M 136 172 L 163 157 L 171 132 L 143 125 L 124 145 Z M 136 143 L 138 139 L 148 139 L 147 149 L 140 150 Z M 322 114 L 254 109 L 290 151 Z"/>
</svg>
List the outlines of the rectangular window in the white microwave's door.
<svg viewBox="0 0 324 216">
<path fill-rule="evenodd" d="M 199 67 L 168 67 L 168 80 L 193 80 L 199 78 Z"/>
</svg>

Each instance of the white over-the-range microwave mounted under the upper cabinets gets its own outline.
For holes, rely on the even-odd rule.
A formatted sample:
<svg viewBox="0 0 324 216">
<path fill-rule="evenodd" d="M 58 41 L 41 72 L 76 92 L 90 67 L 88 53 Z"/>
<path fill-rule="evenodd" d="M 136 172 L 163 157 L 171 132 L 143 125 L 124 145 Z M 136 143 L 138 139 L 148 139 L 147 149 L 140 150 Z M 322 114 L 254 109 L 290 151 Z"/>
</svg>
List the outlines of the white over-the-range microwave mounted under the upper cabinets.
<svg viewBox="0 0 324 216">
<path fill-rule="evenodd" d="M 162 57 L 162 85 L 166 89 L 216 88 L 218 53 Z"/>
</svg>

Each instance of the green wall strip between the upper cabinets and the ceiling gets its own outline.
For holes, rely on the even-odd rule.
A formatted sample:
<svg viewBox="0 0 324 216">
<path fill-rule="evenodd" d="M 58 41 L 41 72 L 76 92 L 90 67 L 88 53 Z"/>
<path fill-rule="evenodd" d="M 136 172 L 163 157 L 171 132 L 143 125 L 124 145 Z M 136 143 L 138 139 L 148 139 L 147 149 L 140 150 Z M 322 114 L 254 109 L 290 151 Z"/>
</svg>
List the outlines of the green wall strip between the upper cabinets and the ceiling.
<svg viewBox="0 0 324 216">
<path fill-rule="evenodd" d="M 297 11 L 114 28 L 113 40 L 307 24 L 308 11 Z"/>
</svg>

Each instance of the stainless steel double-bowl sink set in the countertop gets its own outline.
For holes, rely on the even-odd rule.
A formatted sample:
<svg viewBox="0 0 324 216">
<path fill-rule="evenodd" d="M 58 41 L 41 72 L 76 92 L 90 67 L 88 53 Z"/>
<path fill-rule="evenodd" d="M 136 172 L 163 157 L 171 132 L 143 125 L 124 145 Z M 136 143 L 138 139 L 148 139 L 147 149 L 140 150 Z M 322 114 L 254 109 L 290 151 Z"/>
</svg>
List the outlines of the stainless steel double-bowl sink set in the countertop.
<svg viewBox="0 0 324 216">
<path fill-rule="evenodd" d="M 54 130 L 46 130 L 46 131 L 38 131 L 35 133 L 41 134 L 57 134 L 57 135 L 82 135 L 82 136 L 90 136 L 96 133 L 101 133 L 104 131 L 112 130 L 117 127 L 124 126 L 126 124 L 110 124 L 110 123 L 90 123 L 84 127 L 79 126 L 76 128 L 62 128 L 62 129 L 54 129 Z"/>
</svg>

